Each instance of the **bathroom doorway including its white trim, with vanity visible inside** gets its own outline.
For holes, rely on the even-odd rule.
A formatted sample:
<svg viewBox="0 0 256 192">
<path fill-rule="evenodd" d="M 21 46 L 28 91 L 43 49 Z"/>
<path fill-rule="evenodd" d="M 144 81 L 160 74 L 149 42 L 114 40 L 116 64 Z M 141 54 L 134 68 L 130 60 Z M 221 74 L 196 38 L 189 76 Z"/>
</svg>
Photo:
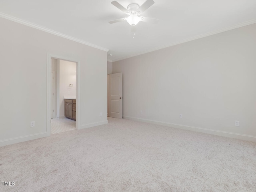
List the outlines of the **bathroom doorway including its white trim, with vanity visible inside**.
<svg viewBox="0 0 256 192">
<path fill-rule="evenodd" d="M 79 129 L 80 62 L 48 54 L 47 135 Z M 71 110 L 69 112 L 67 110 Z M 71 106 L 71 107 L 70 107 Z M 66 113 L 68 112 L 68 114 Z M 71 114 L 71 116 L 70 116 Z"/>
</svg>

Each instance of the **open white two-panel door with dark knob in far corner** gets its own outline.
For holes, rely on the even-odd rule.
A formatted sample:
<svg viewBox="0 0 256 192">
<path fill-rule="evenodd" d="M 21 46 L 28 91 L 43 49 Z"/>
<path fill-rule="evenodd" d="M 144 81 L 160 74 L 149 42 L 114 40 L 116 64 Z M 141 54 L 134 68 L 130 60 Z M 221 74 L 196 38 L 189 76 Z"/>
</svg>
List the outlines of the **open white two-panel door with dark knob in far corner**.
<svg viewBox="0 0 256 192">
<path fill-rule="evenodd" d="M 123 73 L 109 75 L 109 116 L 123 118 Z"/>
</svg>

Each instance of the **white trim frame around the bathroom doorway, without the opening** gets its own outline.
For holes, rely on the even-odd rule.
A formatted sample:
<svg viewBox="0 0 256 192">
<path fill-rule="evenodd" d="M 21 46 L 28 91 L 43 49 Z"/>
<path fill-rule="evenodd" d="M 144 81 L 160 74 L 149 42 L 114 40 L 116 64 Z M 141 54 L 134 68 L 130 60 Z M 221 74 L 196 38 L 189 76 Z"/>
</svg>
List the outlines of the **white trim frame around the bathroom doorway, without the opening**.
<svg viewBox="0 0 256 192">
<path fill-rule="evenodd" d="M 76 63 L 76 129 L 80 129 L 80 60 L 78 58 L 69 58 L 63 55 L 54 55 L 47 53 L 47 109 L 46 109 L 46 132 L 47 136 L 51 135 L 51 117 L 52 117 L 52 58 L 59 60 L 66 60 Z"/>
</svg>

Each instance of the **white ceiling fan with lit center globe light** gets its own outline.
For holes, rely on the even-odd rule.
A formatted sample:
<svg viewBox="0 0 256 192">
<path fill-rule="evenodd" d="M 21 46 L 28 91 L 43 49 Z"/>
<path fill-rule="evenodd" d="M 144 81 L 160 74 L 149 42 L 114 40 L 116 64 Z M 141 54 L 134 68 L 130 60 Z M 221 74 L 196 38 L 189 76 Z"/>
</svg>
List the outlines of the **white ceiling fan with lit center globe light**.
<svg viewBox="0 0 256 192">
<path fill-rule="evenodd" d="M 127 14 L 129 16 L 125 17 L 125 18 L 109 21 L 109 23 L 112 24 L 112 23 L 117 23 L 117 22 L 121 22 L 121 21 L 127 21 L 131 26 L 135 26 L 136 24 L 138 24 L 138 22 L 143 21 L 143 22 L 157 24 L 159 21 L 158 19 L 138 16 L 138 15 L 142 14 L 145 10 L 150 8 L 150 6 L 152 6 L 154 3 L 155 2 L 153 0 L 146 0 L 146 2 L 144 2 L 144 4 L 142 4 L 142 6 L 139 6 L 138 4 L 133 3 L 133 4 L 128 5 L 128 7 L 126 9 L 118 2 L 112 1 L 111 2 L 112 5 L 116 6 L 118 9 L 120 9 L 122 12 L 124 12 L 125 14 Z"/>
</svg>

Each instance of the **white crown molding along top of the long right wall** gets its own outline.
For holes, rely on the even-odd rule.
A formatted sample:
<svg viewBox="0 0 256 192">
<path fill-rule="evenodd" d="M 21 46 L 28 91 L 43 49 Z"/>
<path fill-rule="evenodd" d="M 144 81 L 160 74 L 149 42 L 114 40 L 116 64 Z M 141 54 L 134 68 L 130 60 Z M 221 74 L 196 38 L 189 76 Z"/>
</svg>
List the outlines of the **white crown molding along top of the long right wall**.
<svg viewBox="0 0 256 192">
<path fill-rule="evenodd" d="M 182 44 L 182 43 L 185 43 L 185 42 L 193 41 L 193 40 L 196 40 L 196 39 L 200 39 L 200 38 L 203 38 L 203 37 L 207 37 L 207 36 L 211 36 L 211 35 L 214 35 L 214 34 L 222 33 L 222 32 L 225 32 L 225 31 L 240 28 L 240 27 L 247 26 L 247 25 L 254 24 L 254 23 L 256 23 L 256 19 L 246 21 L 246 22 L 243 22 L 243 23 L 240 23 L 240 24 L 232 25 L 232 26 L 220 29 L 220 30 L 213 31 L 213 32 L 209 32 L 209 33 L 205 33 L 205 34 L 202 34 L 202 35 L 187 38 L 187 39 L 184 39 L 184 40 L 181 40 L 181 41 L 178 41 L 178 42 L 174 42 L 172 44 L 156 47 L 156 48 L 144 51 L 144 52 L 139 52 L 139 53 L 132 54 L 132 55 L 129 55 L 129 56 L 126 56 L 126 57 L 114 59 L 114 60 L 112 60 L 112 62 L 124 60 L 124 59 L 131 58 L 131 57 L 134 57 L 134 56 L 142 55 L 142 54 L 149 53 L 149 52 L 152 52 L 152 51 L 156 51 L 156 50 L 171 47 L 171 46 L 174 46 L 174 45 Z"/>
</svg>

